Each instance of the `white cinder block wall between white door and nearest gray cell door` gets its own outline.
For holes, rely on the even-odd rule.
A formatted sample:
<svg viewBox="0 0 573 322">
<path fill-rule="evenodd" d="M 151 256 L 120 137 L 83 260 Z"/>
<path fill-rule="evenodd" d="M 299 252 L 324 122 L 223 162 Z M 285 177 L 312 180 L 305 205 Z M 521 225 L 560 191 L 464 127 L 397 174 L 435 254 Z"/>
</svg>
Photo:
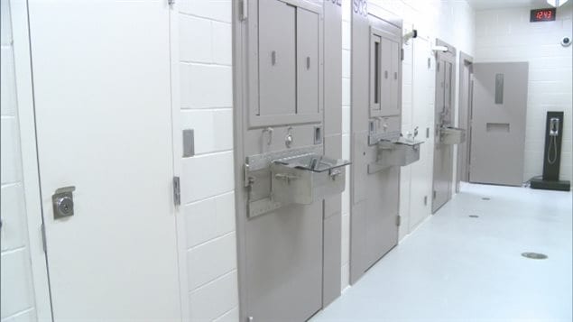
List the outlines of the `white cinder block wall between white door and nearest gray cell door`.
<svg viewBox="0 0 573 322">
<path fill-rule="evenodd" d="M 195 133 L 183 158 L 189 318 L 238 320 L 231 0 L 179 0 L 180 124 Z M 185 297 L 184 297 L 185 298 Z"/>
</svg>

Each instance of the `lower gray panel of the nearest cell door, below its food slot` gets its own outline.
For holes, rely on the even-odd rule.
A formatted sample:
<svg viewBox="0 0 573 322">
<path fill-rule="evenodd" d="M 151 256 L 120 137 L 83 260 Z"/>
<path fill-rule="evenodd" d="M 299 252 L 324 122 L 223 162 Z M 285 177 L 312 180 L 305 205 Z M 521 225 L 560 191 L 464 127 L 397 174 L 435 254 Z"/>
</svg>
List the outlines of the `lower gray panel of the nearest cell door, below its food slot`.
<svg viewBox="0 0 573 322">
<path fill-rule="evenodd" d="M 250 316 L 303 321 L 321 308 L 321 201 L 249 219 L 245 235 Z"/>
</svg>

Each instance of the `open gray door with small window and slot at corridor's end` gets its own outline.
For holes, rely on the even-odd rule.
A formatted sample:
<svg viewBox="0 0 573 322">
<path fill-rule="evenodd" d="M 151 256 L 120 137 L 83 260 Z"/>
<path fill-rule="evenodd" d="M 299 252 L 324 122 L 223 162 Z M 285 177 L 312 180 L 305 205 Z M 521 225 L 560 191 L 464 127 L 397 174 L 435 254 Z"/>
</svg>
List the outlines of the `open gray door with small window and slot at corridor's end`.
<svg viewBox="0 0 573 322">
<path fill-rule="evenodd" d="M 469 180 L 521 186 L 527 62 L 474 64 Z"/>
</svg>

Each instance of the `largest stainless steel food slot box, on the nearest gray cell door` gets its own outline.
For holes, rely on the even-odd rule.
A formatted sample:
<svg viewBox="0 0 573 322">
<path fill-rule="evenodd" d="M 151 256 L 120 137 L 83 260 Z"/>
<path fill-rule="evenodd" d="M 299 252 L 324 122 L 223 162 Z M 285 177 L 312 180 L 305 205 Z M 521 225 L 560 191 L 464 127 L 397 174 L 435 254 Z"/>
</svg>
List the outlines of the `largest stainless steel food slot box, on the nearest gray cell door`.
<svg viewBox="0 0 573 322">
<path fill-rule="evenodd" d="M 322 155 L 319 146 L 269 152 L 246 158 L 249 216 L 292 204 L 313 202 L 345 189 L 349 161 Z"/>
</svg>

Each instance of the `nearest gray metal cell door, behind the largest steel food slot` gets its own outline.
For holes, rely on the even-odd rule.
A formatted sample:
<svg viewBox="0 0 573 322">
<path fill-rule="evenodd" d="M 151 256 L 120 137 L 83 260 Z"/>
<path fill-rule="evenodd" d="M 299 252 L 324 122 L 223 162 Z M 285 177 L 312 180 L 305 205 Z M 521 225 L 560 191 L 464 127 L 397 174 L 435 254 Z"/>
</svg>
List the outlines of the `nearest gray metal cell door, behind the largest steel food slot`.
<svg viewBox="0 0 573 322">
<path fill-rule="evenodd" d="M 310 1 L 251 0 L 241 23 L 240 149 L 252 171 L 237 203 L 241 320 L 304 321 L 322 308 L 323 200 L 277 206 L 275 176 L 254 165 L 269 153 L 323 152 L 322 15 Z"/>
</svg>

